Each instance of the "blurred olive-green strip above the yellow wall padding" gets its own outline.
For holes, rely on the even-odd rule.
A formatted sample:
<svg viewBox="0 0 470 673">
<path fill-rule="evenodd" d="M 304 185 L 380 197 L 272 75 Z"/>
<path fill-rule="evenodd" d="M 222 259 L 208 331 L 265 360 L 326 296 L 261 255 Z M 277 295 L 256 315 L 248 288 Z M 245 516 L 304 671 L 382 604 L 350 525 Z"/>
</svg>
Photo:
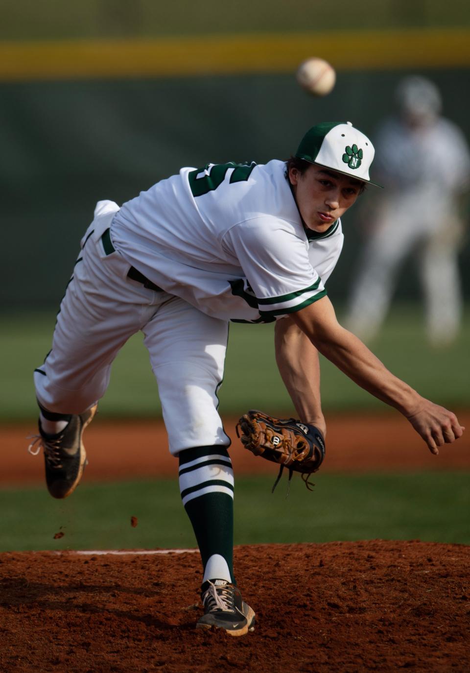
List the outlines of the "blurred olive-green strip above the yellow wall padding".
<svg viewBox="0 0 470 673">
<path fill-rule="evenodd" d="M 0 40 L 462 28 L 468 0 L 2 0 Z"/>
</svg>

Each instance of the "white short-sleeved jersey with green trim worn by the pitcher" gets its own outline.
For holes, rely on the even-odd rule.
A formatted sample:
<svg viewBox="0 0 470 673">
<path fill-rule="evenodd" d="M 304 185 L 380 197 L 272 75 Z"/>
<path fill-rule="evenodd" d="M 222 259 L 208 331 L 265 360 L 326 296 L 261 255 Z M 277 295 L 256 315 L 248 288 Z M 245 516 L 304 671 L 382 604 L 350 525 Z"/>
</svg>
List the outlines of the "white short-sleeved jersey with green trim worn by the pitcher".
<svg viewBox="0 0 470 673">
<path fill-rule="evenodd" d="M 305 230 L 286 164 L 182 168 L 124 203 L 116 250 L 163 290 L 215 318 L 270 322 L 325 295 L 340 220 Z"/>
</svg>

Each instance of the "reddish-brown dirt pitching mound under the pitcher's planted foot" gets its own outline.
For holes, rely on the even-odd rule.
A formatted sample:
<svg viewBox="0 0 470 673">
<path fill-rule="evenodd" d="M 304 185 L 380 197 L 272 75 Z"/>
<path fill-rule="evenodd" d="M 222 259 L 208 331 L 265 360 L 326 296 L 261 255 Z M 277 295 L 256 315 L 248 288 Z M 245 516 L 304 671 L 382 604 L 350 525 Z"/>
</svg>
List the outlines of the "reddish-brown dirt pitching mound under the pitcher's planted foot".
<svg viewBox="0 0 470 673">
<path fill-rule="evenodd" d="M 195 628 L 198 553 L 0 555 L 3 673 L 467 672 L 470 548 L 235 548 L 256 629 Z"/>
</svg>

